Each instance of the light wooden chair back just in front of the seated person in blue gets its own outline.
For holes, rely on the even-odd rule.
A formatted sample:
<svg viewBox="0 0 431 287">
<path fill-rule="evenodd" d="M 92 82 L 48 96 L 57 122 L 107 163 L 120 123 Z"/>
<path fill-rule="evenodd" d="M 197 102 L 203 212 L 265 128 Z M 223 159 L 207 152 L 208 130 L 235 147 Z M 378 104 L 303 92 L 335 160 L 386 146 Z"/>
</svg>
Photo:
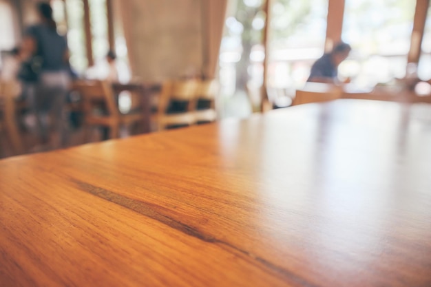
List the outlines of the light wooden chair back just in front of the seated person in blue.
<svg viewBox="0 0 431 287">
<path fill-rule="evenodd" d="M 319 103 L 341 98 L 343 90 L 340 87 L 324 83 L 306 83 L 304 88 L 297 89 L 292 105 Z"/>
</svg>

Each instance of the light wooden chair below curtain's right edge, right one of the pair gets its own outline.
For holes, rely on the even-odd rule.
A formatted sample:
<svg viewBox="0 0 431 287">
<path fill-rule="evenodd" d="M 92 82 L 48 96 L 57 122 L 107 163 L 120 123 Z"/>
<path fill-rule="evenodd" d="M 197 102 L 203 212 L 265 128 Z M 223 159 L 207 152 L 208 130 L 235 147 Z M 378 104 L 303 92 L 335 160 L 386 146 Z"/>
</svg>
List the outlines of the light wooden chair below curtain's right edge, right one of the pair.
<svg viewBox="0 0 431 287">
<path fill-rule="evenodd" d="M 217 119 L 215 97 L 218 93 L 218 83 L 215 80 L 200 81 L 196 93 L 196 123 L 211 123 Z"/>
</svg>

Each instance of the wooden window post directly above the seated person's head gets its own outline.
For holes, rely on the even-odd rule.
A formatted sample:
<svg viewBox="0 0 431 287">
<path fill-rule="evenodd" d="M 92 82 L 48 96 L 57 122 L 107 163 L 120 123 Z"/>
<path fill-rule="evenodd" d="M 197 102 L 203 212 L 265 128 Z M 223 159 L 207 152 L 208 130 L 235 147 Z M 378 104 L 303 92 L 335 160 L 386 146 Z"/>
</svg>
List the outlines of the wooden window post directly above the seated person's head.
<svg viewBox="0 0 431 287">
<path fill-rule="evenodd" d="M 341 41 L 341 32 L 343 30 L 345 0 L 328 1 L 328 17 L 326 25 L 325 52 L 330 52 L 333 46 Z"/>
</svg>

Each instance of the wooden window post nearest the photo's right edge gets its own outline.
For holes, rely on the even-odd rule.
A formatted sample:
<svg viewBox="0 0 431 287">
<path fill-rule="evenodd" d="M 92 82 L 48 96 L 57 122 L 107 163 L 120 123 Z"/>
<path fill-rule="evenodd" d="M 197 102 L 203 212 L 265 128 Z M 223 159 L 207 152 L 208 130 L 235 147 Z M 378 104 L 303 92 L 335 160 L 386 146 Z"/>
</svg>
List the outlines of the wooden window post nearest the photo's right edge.
<svg viewBox="0 0 431 287">
<path fill-rule="evenodd" d="M 426 15 L 430 0 L 417 0 L 416 9 L 414 10 L 414 21 L 412 38 L 410 40 L 410 50 L 408 52 L 408 63 L 418 63 L 421 56 L 421 45 L 423 31 L 425 30 Z"/>
</svg>

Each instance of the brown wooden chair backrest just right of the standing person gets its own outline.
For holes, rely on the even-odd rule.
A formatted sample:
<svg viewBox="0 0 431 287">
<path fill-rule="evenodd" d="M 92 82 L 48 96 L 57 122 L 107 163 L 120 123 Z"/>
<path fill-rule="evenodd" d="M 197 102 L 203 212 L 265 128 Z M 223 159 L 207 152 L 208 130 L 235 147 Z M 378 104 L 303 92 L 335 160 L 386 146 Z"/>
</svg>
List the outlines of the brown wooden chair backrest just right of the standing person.
<svg viewBox="0 0 431 287">
<path fill-rule="evenodd" d="M 111 84 L 107 81 L 78 81 L 74 84 L 82 96 L 85 114 L 91 115 L 93 110 L 104 107 L 109 116 L 119 116 L 118 105 Z"/>
</svg>

